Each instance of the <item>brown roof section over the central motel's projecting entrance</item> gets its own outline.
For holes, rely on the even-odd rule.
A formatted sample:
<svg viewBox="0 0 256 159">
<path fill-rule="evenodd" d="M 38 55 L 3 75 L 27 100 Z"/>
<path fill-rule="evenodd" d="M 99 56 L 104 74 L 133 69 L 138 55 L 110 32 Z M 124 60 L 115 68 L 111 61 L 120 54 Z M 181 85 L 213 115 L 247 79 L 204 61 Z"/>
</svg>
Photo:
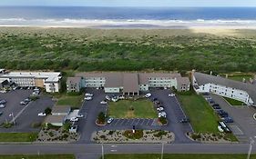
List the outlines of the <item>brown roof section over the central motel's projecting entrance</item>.
<svg viewBox="0 0 256 159">
<path fill-rule="evenodd" d="M 124 93 L 136 93 L 139 91 L 138 74 L 125 73 L 124 74 Z"/>
</svg>

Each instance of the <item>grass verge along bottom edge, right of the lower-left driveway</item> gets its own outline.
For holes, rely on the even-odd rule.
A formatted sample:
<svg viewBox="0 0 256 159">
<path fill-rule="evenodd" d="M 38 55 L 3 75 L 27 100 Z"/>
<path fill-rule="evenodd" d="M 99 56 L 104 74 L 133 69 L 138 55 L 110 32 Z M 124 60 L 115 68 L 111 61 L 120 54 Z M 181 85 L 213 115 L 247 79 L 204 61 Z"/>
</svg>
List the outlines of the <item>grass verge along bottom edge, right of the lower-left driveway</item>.
<svg viewBox="0 0 256 159">
<path fill-rule="evenodd" d="M 164 154 L 164 159 L 244 159 L 246 154 Z M 159 159 L 160 154 L 106 154 L 106 159 Z M 251 159 L 256 159 L 251 154 Z"/>
</svg>

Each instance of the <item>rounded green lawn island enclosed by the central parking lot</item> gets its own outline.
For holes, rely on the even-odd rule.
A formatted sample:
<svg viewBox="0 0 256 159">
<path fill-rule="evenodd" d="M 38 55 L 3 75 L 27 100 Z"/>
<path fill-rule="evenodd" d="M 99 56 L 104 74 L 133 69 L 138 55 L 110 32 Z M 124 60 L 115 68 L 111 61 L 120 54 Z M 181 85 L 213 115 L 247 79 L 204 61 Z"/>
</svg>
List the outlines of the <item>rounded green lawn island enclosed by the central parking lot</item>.
<svg viewBox="0 0 256 159">
<path fill-rule="evenodd" d="M 115 118 L 157 118 L 157 111 L 154 105 L 147 99 L 120 100 L 110 102 L 108 115 Z"/>
</svg>

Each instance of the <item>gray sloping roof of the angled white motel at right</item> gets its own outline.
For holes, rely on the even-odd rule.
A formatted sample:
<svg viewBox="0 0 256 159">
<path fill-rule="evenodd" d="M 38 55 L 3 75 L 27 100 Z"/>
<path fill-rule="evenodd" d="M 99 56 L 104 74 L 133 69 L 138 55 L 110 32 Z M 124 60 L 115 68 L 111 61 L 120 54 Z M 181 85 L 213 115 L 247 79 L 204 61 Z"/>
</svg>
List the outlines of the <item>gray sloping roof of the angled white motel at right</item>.
<svg viewBox="0 0 256 159">
<path fill-rule="evenodd" d="M 254 103 L 256 102 L 256 85 L 255 84 L 242 83 L 242 82 L 230 80 L 221 76 L 207 75 L 207 74 L 202 74 L 197 72 L 194 73 L 194 76 L 199 85 L 211 83 L 211 84 L 220 84 L 223 86 L 228 86 L 235 89 L 240 89 L 240 90 L 246 91 L 250 95 L 252 101 Z"/>
</svg>

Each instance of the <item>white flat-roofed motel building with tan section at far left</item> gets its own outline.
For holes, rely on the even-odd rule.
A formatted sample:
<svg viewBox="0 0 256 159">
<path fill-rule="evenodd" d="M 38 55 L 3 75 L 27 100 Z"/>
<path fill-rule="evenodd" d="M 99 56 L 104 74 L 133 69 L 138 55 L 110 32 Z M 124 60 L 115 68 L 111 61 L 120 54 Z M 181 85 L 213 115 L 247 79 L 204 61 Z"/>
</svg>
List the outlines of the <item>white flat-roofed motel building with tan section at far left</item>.
<svg viewBox="0 0 256 159">
<path fill-rule="evenodd" d="M 16 86 L 36 86 L 55 93 L 60 90 L 61 73 L 59 72 L 7 72 L 0 69 L 0 82 L 7 81 Z"/>
</svg>

